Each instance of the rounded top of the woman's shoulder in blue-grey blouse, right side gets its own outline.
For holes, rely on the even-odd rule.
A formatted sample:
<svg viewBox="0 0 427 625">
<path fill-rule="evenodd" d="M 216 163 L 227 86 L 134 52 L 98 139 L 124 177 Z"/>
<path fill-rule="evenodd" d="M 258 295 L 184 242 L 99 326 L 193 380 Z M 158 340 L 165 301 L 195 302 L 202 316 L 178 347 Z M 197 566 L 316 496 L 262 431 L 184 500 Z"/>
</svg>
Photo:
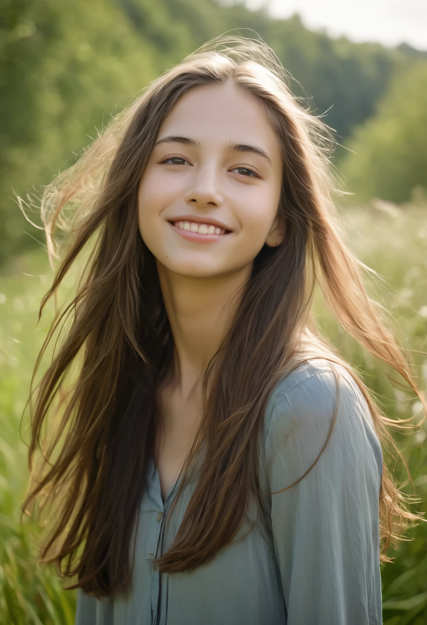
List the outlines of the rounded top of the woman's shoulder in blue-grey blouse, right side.
<svg viewBox="0 0 427 625">
<path fill-rule="evenodd" d="M 369 447 L 382 471 L 380 441 L 355 379 L 340 364 L 310 359 L 283 376 L 272 391 L 265 411 L 267 456 L 278 446 L 318 449 L 332 425 L 328 447 L 339 454 Z"/>
</svg>

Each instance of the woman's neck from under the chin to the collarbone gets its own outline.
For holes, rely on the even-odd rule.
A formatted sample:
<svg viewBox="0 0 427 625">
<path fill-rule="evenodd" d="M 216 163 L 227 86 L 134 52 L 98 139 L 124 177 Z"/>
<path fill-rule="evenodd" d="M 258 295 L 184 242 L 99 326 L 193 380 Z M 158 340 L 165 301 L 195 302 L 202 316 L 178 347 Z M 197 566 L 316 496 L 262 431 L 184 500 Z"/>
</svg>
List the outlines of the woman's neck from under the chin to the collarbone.
<svg viewBox="0 0 427 625">
<path fill-rule="evenodd" d="M 157 262 L 174 337 L 173 383 L 188 397 L 231 327 L 252 267 L 212 278 L 180 276 Z"/>
</svg>

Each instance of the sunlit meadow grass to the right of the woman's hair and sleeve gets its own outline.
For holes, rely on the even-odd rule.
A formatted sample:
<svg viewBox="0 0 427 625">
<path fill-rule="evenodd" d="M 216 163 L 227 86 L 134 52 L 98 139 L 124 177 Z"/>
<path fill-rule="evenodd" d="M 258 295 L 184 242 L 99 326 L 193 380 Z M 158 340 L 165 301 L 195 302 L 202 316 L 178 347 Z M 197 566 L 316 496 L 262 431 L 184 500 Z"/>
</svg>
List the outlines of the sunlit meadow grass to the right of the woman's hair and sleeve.
<svg viewBox="0 0 427 625">
<path fill-rule="evenodd" d="M 368 291 L 387 311 L 421 389 L 427 386 L 427 204 L 398 207 L 373 201 L 365 207 L 343 211 L 350 246 L 356 256 L 374 269 L 379 278 L 368 276 Z M 370 354 L 350 339 L 325 307 L 318 305 L 318 324 L 363 379 L 392 418 L 412 417 L 420 422 L 421 402 L 405 388 L 396 390 L 387 381 Z M 387 372 L 387 371 L 386 371 Z M 396 376 L 392 376 L 394 379 Z M 417 431 L 418 429 L 418 431 Z M 427 422 L 415 434 L 396 434 L 408 463 L 415 491 L 403 464 L 388 461 L 396 479 L 410 496 L 421 497 L 413 509 L 427 512 Z M 394 454 L 395 455 L 395 454 Z M 385 452 L 385 458 L 390 454 Z M 406 534 L 409 541 L 391 548 L 393 562 L 381 567 L 383 620 L 385 625 L 423 625 L 427 622 L 427 523 L 420 521 Z"/>
</svg>

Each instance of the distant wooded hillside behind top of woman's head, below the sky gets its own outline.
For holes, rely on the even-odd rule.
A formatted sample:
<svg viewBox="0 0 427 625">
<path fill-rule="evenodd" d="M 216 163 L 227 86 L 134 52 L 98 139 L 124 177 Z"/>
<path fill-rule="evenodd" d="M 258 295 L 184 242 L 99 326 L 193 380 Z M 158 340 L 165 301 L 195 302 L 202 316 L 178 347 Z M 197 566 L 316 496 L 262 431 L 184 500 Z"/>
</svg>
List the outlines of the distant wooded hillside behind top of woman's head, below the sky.
<svg viewBox="0 0 427 625">
<path fill-rule="evenodd" d="M 117 0 L 117 4 L 142 38 L 159 51 L 165 66 L 224 32 L 258 33 L 295 78 L 293 91 L 313 98 L 317 113 L 328 111 L 326 121 L 340 137 L 373 113 L 395 66 L 410 56 L 411 49 L 390 51 L 379 44 L 354 44 L 345 37 L 330 39 L 305 29 L 298 16 L 272 19 L 243 4 L 218 6 L 214 0 Z"/>
</svg>

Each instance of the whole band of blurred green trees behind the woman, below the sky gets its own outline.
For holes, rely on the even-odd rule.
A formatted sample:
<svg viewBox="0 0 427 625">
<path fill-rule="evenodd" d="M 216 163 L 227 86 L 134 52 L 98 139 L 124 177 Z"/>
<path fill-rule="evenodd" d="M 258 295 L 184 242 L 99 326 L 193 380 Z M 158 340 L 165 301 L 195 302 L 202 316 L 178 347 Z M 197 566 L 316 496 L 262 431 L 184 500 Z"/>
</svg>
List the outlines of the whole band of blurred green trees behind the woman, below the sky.
<svg viewBox="0 0 427 625">
<path fill-rule="evenodd" d="M 334 40 L 308 31 L 298 16 L 272 19 L 264 11 L 215 0 L 2 0 L 0 262 L 37 236 L 14 192 L 40 194 L 145 84 L 230 29 L 246 36 L 251 32 L 245 29 L 252 29 L 267 41 L 293 77 L 293 92 L 325 114 L 339 143 L 350 142 L 358 152 L 343 163 L 350 191 L 400 201 L 411 186 L 424 182 L 421 160 L 417 173 L 399 182 L 400 163 L 411 169 L 413 136 L 416 150 L 422 148 L 417 128 L 423 116 L 426 128 L 426 96 L 418 101 L 418 88 L 423 79 L 427 93 L 427 55 L 409 46 Z M 402 115 L 407 124 L 397 129 Z M 393 170 L 393 184 L 387 186 L 388 160 L 395 154 L 398 173 Z"/>
</svg>

